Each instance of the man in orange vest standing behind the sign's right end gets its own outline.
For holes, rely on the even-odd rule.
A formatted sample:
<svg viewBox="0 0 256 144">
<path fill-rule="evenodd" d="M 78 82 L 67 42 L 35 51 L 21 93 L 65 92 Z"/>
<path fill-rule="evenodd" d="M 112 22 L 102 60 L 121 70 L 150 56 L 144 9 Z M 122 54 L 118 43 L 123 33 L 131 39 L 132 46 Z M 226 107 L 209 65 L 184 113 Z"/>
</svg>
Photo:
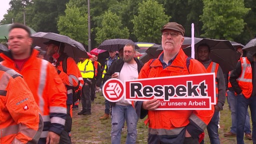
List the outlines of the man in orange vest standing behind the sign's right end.
<svg viewBox="0 0 256 144">
<path fill-rule="evenodd" d="M 218 137 L 218 113 L 223 109 L 225 103 L 225 80 L 221 67 L 218 63 L 211 61 L 210 47 L 206 43 L 201 43 L 197 46 L 197 60 L 199 60 L 206 68 L 207 72 L 215 73 L 216 86 L 216 104 L 214 105 L 214 114 L 207 125 L 207 131 L 210 138 L 210 143 L 220 143 Z M 202 142 L 203 143 L 203 142 Z"/>
</svg>

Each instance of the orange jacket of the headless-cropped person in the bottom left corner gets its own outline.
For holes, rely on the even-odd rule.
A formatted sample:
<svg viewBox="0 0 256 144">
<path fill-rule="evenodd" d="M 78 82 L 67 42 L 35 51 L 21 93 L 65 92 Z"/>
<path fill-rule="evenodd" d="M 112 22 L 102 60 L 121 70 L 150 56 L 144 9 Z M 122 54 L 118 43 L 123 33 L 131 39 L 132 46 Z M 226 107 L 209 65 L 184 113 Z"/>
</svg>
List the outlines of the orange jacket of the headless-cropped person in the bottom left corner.
<svg viewBox="0 0 256 144">
<path fill-rule="evenodd" d="M 40 109 L 22 76 L 0 65 L 0 143 L 37 143 Z"/>
</svg>

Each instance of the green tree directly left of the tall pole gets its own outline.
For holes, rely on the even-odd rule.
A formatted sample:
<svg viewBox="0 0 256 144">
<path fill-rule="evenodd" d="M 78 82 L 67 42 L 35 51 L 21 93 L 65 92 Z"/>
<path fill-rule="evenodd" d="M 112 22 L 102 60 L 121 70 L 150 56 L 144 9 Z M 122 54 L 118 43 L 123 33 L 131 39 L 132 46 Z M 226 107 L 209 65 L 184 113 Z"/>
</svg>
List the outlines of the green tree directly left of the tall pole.
<svg viewBox="0 0 256 144">
<path fill-rule="evenodd" d="M 79 8 L 67 6 L 64 16 L 59 16 L 57 27 L 59 34 L 67 35 L 70 38 L 84 44 L 88 44 L 88 14 L 80 12 Z"/>
</svg>

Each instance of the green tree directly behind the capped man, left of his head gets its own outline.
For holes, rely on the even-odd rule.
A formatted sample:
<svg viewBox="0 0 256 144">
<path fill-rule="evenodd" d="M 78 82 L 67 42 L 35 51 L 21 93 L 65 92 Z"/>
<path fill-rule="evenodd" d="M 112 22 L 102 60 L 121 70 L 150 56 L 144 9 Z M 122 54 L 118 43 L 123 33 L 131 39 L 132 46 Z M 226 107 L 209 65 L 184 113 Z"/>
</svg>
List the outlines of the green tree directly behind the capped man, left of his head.
<svg viewBox="0 0 256 144">
<path fill-rule="evenodd" d="M 139 3 L 138 15 L 132 19 L 134 35 L 138 41 L 159 43 L 159 30 L 169 19 L 170 16 L 164 13 L 162 4 L 155 0 L 143 1 Z"/>
</svg>

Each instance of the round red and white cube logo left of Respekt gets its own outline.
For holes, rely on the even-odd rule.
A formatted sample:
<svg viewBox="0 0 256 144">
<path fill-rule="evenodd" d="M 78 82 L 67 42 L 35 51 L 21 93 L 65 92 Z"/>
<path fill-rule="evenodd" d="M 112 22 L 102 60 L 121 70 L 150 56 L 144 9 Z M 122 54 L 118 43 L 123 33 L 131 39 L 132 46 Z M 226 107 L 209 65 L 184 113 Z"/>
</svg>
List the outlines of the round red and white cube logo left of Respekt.
<svg viewBox="0 0 256 144">
<path fill-rule="evenodd" d="M 111 102 L 119 101 L 124 93 L 123 83 L 120 79 L 117 78 L 106 80 L 102 89 L 104 97 Z"/>
</svg>

